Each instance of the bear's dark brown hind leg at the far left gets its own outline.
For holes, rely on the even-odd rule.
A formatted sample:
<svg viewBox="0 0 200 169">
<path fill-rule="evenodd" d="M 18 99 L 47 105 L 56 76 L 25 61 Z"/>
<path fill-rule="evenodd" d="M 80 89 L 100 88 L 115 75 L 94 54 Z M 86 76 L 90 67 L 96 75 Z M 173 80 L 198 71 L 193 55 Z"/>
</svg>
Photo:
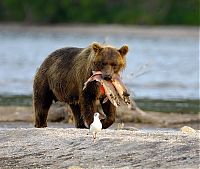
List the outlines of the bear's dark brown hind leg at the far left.
<svg viewBox="0 0 200 169">
<path fill-rule="evenodd" d="M 51 91 L 37 91 L 33 93 L 33 108 L 35 113 L 35 127 L 47 127 L 47 115 L 52 104 L 53 97 Z"/>
</svg>

